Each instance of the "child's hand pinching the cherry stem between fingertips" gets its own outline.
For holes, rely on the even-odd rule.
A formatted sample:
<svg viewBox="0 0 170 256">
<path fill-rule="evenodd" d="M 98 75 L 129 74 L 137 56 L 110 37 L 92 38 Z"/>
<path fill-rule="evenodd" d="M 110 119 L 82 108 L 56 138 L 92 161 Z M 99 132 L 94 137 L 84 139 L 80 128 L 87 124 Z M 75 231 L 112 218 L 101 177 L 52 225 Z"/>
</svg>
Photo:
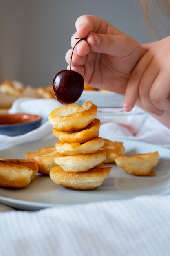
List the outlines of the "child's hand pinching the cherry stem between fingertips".
<svg viewBox="0 0 170 256">
<path fill-rule="evenodd" d="M 92 87 L 124 94 L 132 70 L 145 49 L 130 36 L 105 20 L 95 16 L 81 16 L 76 21 L 76 33 L 71 38 L 80 41 L 73 52 L 72 69 L 82 74 Z M 66 54 L 70 63 L 72 49 Z"/>
</svg>

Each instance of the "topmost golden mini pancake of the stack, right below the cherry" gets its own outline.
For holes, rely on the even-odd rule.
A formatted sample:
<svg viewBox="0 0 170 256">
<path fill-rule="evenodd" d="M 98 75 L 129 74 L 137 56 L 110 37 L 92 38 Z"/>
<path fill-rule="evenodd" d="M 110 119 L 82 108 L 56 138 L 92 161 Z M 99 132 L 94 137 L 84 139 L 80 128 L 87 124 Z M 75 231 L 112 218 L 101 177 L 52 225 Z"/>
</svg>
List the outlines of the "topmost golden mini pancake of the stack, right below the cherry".
<svg viewBox="0 0 170 256">
<path fill-rule="evenodd" d="M 75 132 L 87 128 L 97 116 L 97 106 L 91 101 L 82 106 L 70 104 L 57 108 L 49 114 L 49 122 L 62 132 Z"/>
</svg>

